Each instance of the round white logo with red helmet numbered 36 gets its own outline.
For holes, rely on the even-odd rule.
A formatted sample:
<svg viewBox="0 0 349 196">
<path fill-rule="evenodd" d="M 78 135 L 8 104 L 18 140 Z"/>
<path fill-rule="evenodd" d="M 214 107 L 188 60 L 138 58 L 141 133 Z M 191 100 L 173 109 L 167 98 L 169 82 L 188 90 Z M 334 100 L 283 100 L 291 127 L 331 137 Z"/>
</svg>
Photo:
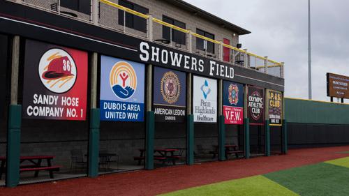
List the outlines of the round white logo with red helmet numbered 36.
<svg viewBox="0 0 349 196">
<path fill-rule="evenodd" d="M 74 86 L 77 70 L 68 52 L 54 48 L 41 56 L 38 74 L 47 89 L 54 93 L 65 93 Z"/>
</svg>

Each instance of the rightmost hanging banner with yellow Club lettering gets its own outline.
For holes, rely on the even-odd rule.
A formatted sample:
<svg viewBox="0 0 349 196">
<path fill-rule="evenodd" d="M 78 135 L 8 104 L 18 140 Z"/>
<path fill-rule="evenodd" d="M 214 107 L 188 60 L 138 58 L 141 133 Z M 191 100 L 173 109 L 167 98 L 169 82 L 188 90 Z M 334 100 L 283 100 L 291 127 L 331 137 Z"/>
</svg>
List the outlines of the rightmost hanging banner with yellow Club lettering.
<svg viewBox="0 0 349 196">
<path fill-rule="evenodd" d="M 268 115 L 270 126 L 282 125 L 282 94 L 280 91 L 268 91 Z"/>
</svg>

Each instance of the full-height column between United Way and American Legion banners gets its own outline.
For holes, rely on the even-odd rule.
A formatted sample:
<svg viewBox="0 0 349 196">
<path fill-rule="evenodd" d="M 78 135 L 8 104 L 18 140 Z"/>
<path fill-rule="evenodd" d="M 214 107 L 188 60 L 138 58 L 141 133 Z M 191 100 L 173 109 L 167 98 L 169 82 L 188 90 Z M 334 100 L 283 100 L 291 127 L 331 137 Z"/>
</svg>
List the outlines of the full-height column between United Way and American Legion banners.
<svg viewBox="0 0 349 196">
<path fill-rule="evenodd" d="M 151 111 L 153 66 L 147 66 L 147 116 L 145 122 L 145 169 L 154 169 L 154 112 Z"/>
</svg>

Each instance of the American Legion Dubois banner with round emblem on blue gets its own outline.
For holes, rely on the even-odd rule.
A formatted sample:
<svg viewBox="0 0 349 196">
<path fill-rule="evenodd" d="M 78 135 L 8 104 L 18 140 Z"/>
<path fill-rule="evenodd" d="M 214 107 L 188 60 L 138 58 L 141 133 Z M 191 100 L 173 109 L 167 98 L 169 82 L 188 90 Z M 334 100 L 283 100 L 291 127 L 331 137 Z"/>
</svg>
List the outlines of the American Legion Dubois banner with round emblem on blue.
<svg viewBox="0 0 349 196">
<path fill-rule="evenodd" d="M 154 67 L 154 113 L 157 122 L 186 120 L 186 73 Z"/>
</svg>

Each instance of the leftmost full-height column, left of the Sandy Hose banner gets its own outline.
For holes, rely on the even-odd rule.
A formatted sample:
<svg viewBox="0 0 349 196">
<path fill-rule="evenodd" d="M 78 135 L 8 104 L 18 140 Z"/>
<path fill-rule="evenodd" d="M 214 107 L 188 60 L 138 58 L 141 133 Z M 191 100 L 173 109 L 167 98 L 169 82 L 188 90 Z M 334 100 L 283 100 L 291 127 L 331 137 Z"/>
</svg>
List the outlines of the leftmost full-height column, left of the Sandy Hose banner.
<svg viewBox="0 0 349 196">
<path fill-rule="evenodd" d="M 20 181 L 20 133 L 22 105 L 18 105 L 18 72 L 20 66 L 20 36 L 13 38 L 11 64 L 11 93 L 8 108 L 6 186 L 15 187 Z"/>
</svg>

